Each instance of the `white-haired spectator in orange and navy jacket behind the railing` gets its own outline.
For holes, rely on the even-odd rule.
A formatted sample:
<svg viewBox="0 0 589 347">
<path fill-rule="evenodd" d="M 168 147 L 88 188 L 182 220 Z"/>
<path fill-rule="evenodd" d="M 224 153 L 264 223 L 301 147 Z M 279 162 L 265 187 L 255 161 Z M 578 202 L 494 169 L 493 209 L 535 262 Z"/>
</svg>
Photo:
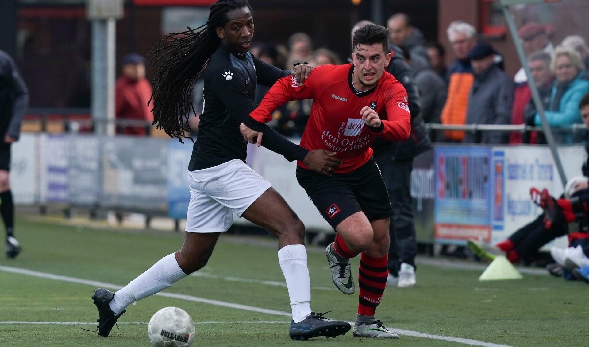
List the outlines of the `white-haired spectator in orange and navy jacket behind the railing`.
<svg viewBox="0 0 589 347">
<path fill-rule="evenodd" d="M 468 52 L 477 44 L 477 29 L 463 21 L 452 22 L 447 29 L 456 61 L 448 68 L 448 97 L 442 109 L 442 124 L 465 124 L 468 94 L 474 82 Z M 464 131 L 446 130 L 447 141 L 460 142 Z"/>
</svg>

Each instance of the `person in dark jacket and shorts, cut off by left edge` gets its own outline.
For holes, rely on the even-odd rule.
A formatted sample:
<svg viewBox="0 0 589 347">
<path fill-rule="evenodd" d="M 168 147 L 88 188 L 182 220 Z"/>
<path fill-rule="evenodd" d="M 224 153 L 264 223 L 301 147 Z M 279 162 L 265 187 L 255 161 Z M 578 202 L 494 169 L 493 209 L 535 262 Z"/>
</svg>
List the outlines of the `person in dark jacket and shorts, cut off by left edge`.
<svg viewBox="0 0 589 347">
<path fill-rule="evenodd" d="M 14 238 L 14 204 L 8 180 L 10 146 L 21 134 L 29 92 L 12 58 L 0 51 L 0 214 L 6 227 L 6 257 L 16 257 L 21 247 Z"/>
</svg>

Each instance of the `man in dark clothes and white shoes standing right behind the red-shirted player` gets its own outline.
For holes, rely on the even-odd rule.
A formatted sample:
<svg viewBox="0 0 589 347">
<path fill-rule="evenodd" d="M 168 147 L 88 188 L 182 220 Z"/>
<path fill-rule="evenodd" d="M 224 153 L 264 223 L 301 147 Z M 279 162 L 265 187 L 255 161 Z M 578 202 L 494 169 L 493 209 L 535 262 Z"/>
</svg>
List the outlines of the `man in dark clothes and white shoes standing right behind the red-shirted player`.
<svg viewBox="0 0 589 347">
<path fill-rule="evenodd" d="M 352 34 L 366 24 L 373 23 L 358 22 L 352 28 Z M 391 245 L 389 246 L 388 284 L 406 287 L 415 285 L 415 255 L 417 253 L 410 189 L 413 158 L 432 147 L 420 115 L 419 92 L 413 81 L 413 71 L 405 63 L 399 47 L 391 45 L 389 48 L 392 57 L 386 71 L 401 82 L 407 92 L 411 113 L 411 136 L 409 140 L 401 143 L 391 143 L 376 138 L 372 144 L 372 150 L 389 191 L 391 206 L 395 211 L 389 226 Z"/>
</svg>

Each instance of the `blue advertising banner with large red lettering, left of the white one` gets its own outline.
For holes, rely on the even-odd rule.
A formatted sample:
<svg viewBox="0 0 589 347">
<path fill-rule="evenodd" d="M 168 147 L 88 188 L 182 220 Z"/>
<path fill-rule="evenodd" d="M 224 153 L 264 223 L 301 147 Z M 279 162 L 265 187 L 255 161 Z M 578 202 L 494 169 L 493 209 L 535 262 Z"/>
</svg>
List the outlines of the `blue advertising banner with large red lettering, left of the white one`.
<svg viewBox="0 0 589 347">
<path fill-rule="evenodd" d="M 491 239 L 491 148 L 439 146 L 434 158 L 436 241 Z"/>
</svg>

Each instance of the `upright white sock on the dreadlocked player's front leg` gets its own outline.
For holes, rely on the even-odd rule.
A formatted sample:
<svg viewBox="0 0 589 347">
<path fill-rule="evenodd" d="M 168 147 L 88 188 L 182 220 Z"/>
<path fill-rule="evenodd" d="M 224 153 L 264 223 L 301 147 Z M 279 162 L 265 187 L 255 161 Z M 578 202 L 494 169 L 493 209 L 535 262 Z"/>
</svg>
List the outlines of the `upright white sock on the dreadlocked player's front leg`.
<svg viewBox="0 0 589 347">
<path fill-rule="evenodd" d="M 311 281 L 304 244 L 289 244 L 278 250 L 278 262 L 289 290 L 294 323 L 311 314 Z"/>
</svg>

